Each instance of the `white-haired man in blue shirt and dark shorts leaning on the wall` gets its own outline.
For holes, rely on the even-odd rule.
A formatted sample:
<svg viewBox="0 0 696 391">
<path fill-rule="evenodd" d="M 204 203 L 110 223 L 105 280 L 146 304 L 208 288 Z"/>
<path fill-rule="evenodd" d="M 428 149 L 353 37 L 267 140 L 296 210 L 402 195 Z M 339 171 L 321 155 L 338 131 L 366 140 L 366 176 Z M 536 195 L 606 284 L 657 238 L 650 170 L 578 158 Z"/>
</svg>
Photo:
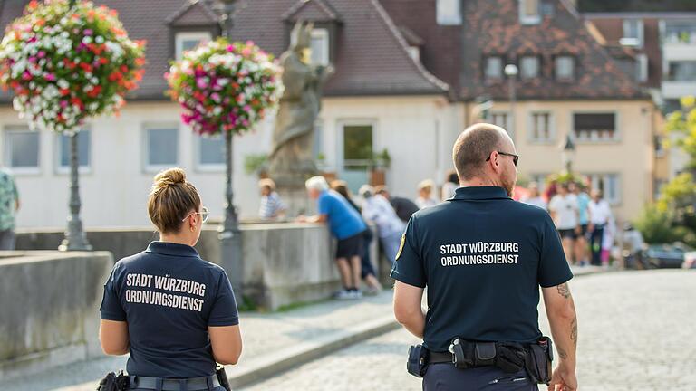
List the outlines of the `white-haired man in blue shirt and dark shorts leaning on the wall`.
<svg viewBox="0 0 696 391">
<path fill-rule="evenodd" d="M 336 265 L 341 273 L 343 291 L 336 293 L 336 299 L 352 300 L 362 297 L 360 287 L 361 255 L 364 245 L 362 233 L 367 225 L 361 215 L 348 204 L 340 194 L 329 189 L 324 176 L 313 176 L 305 183 L 307 193 L 317 200 L 318 215 L 300 216 L 299 221 L 309 223 L 328 223 L 331 234 L 336 237 Z"/>
</svg>

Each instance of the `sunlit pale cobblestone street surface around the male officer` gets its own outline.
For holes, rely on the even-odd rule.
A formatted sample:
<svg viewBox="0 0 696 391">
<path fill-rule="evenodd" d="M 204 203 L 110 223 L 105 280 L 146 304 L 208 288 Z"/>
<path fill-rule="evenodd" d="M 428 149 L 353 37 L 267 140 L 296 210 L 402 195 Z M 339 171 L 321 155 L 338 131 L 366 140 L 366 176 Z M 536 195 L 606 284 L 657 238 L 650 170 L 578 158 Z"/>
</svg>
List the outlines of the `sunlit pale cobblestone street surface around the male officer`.
<svg viewBox="0 0 696 391">
<path fill-rule="evenodd" d="M 571 290 L 579 319 L 579 389 L 696 390 L 696 272 L 596 274 L 571 281 Z M 547 334 L 543 308 L 540 319 Z M 245 390 L 420 389 L 419 379 L 405 372 L 414 341 L 402 329 L 393 331 Z"/>
</svg>

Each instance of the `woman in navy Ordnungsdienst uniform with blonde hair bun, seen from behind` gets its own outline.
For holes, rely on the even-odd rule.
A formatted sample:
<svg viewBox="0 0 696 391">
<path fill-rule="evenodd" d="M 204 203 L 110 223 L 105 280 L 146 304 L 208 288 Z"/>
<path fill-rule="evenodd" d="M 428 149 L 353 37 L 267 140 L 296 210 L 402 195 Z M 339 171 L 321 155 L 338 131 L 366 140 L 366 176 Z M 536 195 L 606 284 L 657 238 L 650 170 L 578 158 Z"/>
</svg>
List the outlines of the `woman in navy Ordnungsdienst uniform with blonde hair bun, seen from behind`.
<svg viewBox="0 0 696 391">
<path fill-rule="evenodd" d="M 160 241 L 116 262 L 104 285 L 104 353 L 130 353 L 130 389 L 222 391 L 216 361 L 242 351 L 237 303 L 227 274 L 203 261 L 198 242 L 208 209 L 180 168 L 155 176 L 148 200 Z"/>
</svg>

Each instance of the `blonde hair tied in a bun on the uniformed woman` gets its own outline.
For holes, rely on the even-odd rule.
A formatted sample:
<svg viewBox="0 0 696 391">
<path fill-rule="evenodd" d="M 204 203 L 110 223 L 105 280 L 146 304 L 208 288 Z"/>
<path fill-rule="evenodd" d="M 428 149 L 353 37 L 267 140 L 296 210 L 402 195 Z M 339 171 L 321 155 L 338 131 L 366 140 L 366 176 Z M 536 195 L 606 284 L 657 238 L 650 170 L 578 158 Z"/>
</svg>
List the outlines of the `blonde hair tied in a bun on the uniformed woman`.
<svg viewBox="0 0 696 391">
<path fill-rule="evenodd" d="M 148 199 L 148 214 L 160 233 L 179 232 L 181 220 L 191 210 L 198 211 L 200 196 L 196 186 L 186 180 L 186 172 L 169 168 L 155 176 Z"/>
</svg>

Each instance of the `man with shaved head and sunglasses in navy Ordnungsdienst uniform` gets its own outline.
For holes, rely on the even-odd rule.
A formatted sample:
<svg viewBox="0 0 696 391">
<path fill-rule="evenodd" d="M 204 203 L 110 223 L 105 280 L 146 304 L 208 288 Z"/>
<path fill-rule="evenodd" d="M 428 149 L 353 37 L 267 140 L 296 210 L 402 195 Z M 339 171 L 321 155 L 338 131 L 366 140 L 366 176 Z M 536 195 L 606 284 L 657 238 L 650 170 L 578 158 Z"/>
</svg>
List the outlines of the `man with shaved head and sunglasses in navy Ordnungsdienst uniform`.
<svg viewBox="0 0 696 391">
<path fill-rule="evenodd" d="M 577 319 L 567 285 L 573 274 L 546 211 L 510 197 L 519 158 L 512 139 L 505 129 L 477 124 L 461 133 L 453 158 L 461 187 L 411 217 L 391 272 L 396 319 L 423 338 L 429 357 L 445 358 L 426 359 L 423 389 L 536 390 L 525 368 L 504 371 L 497 358 L 466 369 L 446 361 L 455 339 L 477 347 L 539 343 L 541 286 L 560 358 L 549 389 L 575 390 Z"/>
</svg>

